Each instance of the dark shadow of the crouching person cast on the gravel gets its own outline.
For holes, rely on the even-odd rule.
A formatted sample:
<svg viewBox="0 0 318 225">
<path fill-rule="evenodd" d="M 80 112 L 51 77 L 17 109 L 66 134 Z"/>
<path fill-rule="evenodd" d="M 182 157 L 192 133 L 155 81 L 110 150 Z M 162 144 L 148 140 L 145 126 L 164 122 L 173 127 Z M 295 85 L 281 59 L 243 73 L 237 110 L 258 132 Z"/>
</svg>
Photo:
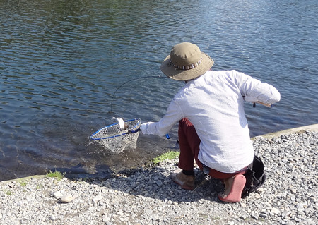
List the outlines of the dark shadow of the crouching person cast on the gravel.
<svg viewBox="0 0 318 225">
<path fill-rule="evenodd" d="M 78 173 L 83 172 L 80 167 L 78 166 Z M 219 201 L 217 194 L 223 190 L 222 182 L 214 178 L 206 181 L 195 190 L 184 190 L 172 181 L 170 177 L 172 170 L 167 170 L 165 166 L 160 166 L 160 164 L 148 166 L 146 169 L 125 169 L 116 174 L 111 173 L 109 167 L 106 167 L 96 166 L 96 174 L 92 174 L 82 181 L 129 195 L 142 195 L 143 197 L 163 200 L 168 204 L 176 202 L 199 202 L 198 204 L 200 204 L 203 203 L 202 200 Z M 195 169 L 194 173 L 196 174 L 196 184 L 204 180 L 204 174 L 199 168 Z M 64 176 L 72 179 L 71 174 L 67 172 Z"/>
</svg>

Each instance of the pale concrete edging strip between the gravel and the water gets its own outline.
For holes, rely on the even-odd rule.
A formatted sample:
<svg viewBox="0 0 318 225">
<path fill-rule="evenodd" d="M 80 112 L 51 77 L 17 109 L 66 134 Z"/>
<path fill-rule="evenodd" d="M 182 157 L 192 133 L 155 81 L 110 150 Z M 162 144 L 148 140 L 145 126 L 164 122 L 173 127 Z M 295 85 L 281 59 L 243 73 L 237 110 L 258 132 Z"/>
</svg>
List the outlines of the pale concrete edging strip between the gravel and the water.
<svg viewBox="0 0 318 225">
<path fill-rule="evenodd" d="M 308 126 L 301 126 L 301 127 L 298 127 L 298 128 L 291 128 L 291 129 L 288 129 L 288 130 L 281 130 L 281 131 L 277 131 L 277 132 L 274 132 L 274 133 L 267 133 L 267 134 L 264 134 L 264 135 L 255 136 L 255 137 L 253 137 L 251 139 L 254 140 L 255 138 L 258 138 L 258 137 L 271 139 L 271 138 L 280 137 L 281 135 L 288 135 L 290 133 L 302 133 L 305 130 L 318 131 L 318 123 L 312 124 L 312 125 L 308 125 Z M 32 178 L 40 179 L 40 178 L 45 178 L 46 176 L 47 175 L 34 175 L 34 176 L 26 176 L 26 177 L 23 177 L 23 178 L 16 178 L 16 179 L 7 180 L 7 181 L 0 181 L 0 185 L 6 184 L 6 183 L 11 183 L 12 181 L 16 181 L 16 183 L 19 183 L 19 182 L 22 182 L 22 181 L 29 181 Z"/>
</svg>

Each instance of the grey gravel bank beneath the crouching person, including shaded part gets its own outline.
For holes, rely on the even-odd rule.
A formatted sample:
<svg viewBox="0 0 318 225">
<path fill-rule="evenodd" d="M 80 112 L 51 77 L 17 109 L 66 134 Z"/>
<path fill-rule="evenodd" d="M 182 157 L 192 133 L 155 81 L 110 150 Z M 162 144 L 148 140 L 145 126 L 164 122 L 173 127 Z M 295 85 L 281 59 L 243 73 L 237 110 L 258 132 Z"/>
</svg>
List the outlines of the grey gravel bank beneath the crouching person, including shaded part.
<svg viewBox="0 0 318 225">
<path fill-rule="evenodd" d="M 239 203 L 217 199 L 223 188 L 218 180 L 194 192 L 179 188 L 169 177 L 177 169 L 175 159 L 106 181 L 2 181 L 0 224 L 318 224 L 318 133 L 253 142 L 267 179 Z M 199 181 L 201 172 L 196 175 Z"/>
</svg>

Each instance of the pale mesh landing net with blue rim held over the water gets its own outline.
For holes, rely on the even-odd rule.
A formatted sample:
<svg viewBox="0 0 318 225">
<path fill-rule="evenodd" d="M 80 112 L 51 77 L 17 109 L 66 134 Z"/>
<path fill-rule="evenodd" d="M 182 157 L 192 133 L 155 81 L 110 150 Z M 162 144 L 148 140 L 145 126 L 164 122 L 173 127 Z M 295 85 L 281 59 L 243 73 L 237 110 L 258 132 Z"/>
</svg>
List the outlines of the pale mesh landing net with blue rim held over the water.
<svg viewBox="0 0 318 225">
<path fill-rule="evenodd" d="M 124 123 L 128 126 L 125 130 L 119 127 L 119 123 L 114 123 L 96 131 L 90 136 L 90 139 L 114 153 L 123 152 L 127 148 L 135 149 L 141 120 L 131 119 Z"/>
</svg>

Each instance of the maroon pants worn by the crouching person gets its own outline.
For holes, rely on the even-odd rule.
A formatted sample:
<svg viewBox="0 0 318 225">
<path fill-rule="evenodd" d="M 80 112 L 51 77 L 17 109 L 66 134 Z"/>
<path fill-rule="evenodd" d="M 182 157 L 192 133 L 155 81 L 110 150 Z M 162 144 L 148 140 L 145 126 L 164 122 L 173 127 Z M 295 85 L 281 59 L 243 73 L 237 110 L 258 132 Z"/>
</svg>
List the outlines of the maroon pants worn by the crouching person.
<svg viewBox="0 0 318 225">
<path fill-rule="evenodd" d="M 183 118 L 179 121 L 179 147 L 180 147 L 180 157 L 179 157 L 179 168 L 184 170 L 194 169 L 194 159 L 196 164 L 202 170 L 202 163 L 198 159 L 198 154 L 200 151 L 200 138 L 196 133 L 196 129 L 193 124 L 187 119 Z M 210 168 L 209 175 L 213 178 L 226 179 L 237 174 L 245 174 L 247 168 L 237 171 L 232 174 L 222 173 Z"/>
</svg>

